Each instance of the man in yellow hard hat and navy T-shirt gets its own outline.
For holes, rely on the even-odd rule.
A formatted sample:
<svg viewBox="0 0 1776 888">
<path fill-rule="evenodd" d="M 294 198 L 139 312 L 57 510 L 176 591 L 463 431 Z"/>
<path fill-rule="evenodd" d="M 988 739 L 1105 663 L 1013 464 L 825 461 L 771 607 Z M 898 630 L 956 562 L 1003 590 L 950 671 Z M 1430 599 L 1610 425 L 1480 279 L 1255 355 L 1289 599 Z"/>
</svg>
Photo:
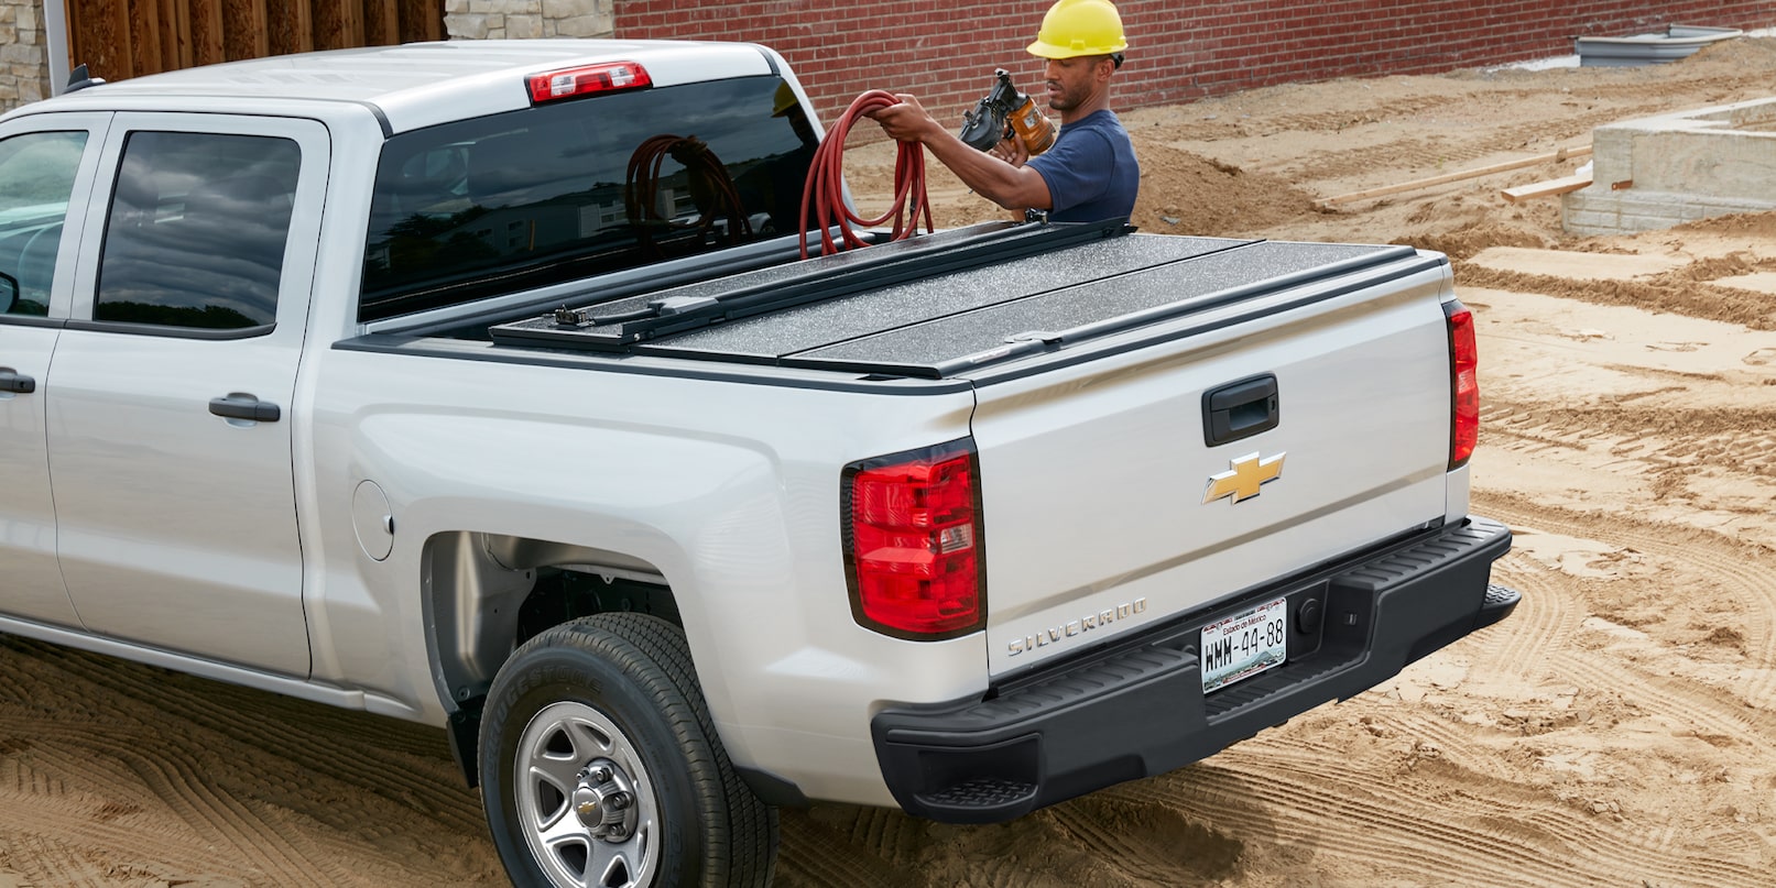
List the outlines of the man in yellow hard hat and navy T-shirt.
<svg viewBox="0 0 1776 888">
<path fill-rule="evenodd" d="M 1122 121 L 1110 110 L 1110 78 L 1122 66 L 1122 18 L 1110 0 L 1057 0 L 1030 55 L 1048 59 L 1048 107 L 1060 137 L 1039 156 L 1021 139 L 993 153 L 968 147 L 909 94 L 870 117 L 902 142 L 922 142 L 955 178 L 1007 210 L 1046 210 L 1051 222 L 1128 218 L 1140 167 Z"/>
</svg>

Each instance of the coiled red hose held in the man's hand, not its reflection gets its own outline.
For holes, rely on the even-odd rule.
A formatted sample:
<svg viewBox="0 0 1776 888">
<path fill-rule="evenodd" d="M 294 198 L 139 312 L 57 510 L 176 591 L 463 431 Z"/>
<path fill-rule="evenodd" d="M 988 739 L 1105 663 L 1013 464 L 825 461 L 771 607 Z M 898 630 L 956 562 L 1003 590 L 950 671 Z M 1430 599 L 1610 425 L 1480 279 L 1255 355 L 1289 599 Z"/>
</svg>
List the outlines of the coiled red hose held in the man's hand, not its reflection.
<svg viewBox="0 0 1776 888">
<path fill-rule="evenodd" d="M 821 224 L 821 252 L 838 249 L 831 229 L 836 226 L 845 242 L 845 249 L 868 247 L 852 226 L 876 227 L 893 218 L 892 240 L 904 240 L 918 231 L 918 217 L 925 217 L 925 231 L 936 231 L 931 224 L 931 201 L 925 197 L 925 147 L 918 142 L 900 142 L 893 160 L 893 206 L 879 218 L 863 218 L 845 204 L 845 137 L 858 117 L 872 110 L 899 105 L 892 92 L 872 89 L 858 96 L 845 114 L 826 131 L 826 140 L 813 151 L 813 163 L 808 165 L 808 185 L 801 192 L 801 218 L 813 218 Z M 801 258 L 808 258 L 808 238 L 801 240 Z"/>
</svg>

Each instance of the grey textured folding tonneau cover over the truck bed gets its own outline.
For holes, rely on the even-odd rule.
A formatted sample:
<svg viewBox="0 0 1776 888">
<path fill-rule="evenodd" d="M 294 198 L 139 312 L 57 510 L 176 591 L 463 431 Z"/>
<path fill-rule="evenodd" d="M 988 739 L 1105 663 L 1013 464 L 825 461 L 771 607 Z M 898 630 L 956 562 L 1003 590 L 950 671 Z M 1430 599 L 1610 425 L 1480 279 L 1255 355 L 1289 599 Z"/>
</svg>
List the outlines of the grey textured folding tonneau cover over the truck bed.
<svg viewBox="0 0 1776 888">
<path fill-rule="evenodd" d="M 1399 245 L 1131 231 L 991 222 L 563 307 L 490 334 L 508 345 L 947 378 L 1415 256 Z M 1325 297 L 1316 288 L 1311 298 Z"/>
</svg>

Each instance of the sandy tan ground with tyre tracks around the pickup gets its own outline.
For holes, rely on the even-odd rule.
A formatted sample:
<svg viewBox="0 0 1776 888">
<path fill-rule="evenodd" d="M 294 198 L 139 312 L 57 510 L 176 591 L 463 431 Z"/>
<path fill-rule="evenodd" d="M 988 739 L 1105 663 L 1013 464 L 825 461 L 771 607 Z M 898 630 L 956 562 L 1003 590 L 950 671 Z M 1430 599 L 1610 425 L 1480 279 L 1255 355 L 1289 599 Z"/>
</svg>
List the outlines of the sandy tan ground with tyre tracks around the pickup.
<svg viewBox="0 0 1776 888">
<path fill-rule="evenodd" d="M 1146 231 L 1401 242 L 1481 336 L 1504 623 L 1208 762 L 1012 824 L 785 812 L 785 886 L 1776 884 L 1776 217 L 1572 238 L 1497 190 L 1316 197 L 1764 98 L 1776 43 L 1126 115 Z M 884 146 L 852 151 L 886 194 Z M 936 172 L 940 224 L 996 213 Z M 0 888 L 503 884 L 439 732 L 0 639 Z"/>
</svg>

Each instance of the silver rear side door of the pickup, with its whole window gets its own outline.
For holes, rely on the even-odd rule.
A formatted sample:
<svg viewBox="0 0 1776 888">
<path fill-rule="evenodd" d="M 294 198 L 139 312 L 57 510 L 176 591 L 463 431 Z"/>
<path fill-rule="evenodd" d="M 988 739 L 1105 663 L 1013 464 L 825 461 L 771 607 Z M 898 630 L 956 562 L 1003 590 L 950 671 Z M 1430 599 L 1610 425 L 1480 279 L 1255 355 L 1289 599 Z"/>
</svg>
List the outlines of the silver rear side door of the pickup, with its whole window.
<svg viewBox="0 0 1776 888">
<path fill-rule="evenodd" d="M 46 385 L 60 567 L 87 629 L 309 673 L 291 394 L 320 123 L 119 114 Z"/>
</svg>

